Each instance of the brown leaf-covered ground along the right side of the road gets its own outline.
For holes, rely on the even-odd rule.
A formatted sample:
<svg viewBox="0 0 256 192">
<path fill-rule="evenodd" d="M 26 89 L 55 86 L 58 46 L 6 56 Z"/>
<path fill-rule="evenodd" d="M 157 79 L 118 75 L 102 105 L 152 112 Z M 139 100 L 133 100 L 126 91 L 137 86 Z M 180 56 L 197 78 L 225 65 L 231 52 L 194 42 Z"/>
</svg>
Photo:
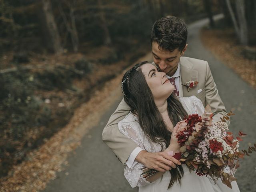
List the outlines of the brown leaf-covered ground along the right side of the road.
<svg viewBox="0 0 256 192">
<path fill-rule="evenodd" d="M 238 73 L 243 80 L 256 88 L 256 60 L 244 57 L 245 47 L 236 42 L 234 30 L 204 29 L 201 32 L 201 38 L 204 46 L 209 48 L 224 64 Z M 256 47 L 254 46 L 252 49 L 256 53 Z"/>
</svg>

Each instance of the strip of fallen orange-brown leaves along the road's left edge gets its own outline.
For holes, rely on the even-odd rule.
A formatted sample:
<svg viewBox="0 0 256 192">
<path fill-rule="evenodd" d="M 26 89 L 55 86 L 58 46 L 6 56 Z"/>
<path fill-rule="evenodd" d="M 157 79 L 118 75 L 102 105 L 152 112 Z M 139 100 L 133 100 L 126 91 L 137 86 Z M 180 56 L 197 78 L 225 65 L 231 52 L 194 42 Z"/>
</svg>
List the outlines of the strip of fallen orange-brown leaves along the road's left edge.
<svg viewBox="0 0 256 192">
<path fill-rule="evenodd" d="M 38 150 L 28 153 L 26 160 L 10 170 L 0 179 L 0 191 L 28 192 L 43 190 L 46 183 L 56 178 L 68 165 L 68 154 L 80 145 L 80 140 L 95 126 L 101 114 L 121 96 L 122 75 L 110 80 L 102 90 L 96 91 L 91 99 L 75 110 L 70 122 L 50 139 L 45 140 Z"/>
</svg>

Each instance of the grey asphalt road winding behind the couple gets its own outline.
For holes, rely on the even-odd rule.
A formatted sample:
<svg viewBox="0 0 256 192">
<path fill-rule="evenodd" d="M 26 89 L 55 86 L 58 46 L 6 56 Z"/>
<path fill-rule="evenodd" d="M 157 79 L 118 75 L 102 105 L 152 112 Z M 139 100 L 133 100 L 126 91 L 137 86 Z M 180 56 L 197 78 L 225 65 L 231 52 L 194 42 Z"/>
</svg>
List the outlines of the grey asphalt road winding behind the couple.
<svg viewBox="0 0 256 192">
<path fill-rule="evenodd" d="M 248 142 L 256 143 L 256 90 L 204 48 L 199 30 L 207 22 L 206 19 L 189 25 L 188 49 L 185 56 L 208 61 L 226 109 L 233 110 L 236 114 L 232 116 L 231 131 L 237 133 L 241 130 L 248 134 L 240 143 L 240 148 L 244 149 Z M 47 185 L 44 192 L 138 191 L 138 188 L 130 187 L 124 178 L 122 164 L 101 139 L 102 130 L 120 100 L 106 111 L 98 126 L 92 128 L 83 138 L 75 154 L 71 154 L 68 158 L 70 166 L 59 172 L 57 178 Z M 256 153 L 240 161 L 240 168 L 235 176 L 241 192 L 256 192 L 255 160 Z"/>
</svg>

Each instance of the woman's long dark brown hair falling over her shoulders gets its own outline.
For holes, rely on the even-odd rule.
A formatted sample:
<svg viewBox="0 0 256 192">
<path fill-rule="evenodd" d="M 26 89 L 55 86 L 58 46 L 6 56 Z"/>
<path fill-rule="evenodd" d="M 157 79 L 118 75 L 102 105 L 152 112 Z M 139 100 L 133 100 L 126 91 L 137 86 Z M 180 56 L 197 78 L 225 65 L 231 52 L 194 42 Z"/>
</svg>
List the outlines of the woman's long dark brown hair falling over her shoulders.
<svg viewBox="0 0 256 192">
<path fill-rule="evenodd" d="M 148 87 L 145 76 L 142 73 L 141 66 L 147 64 L 147 61 L 136 64 L 132 69 L 128 70 L 122 79 L 122 91 L 124 93 L 124 101 L 130 106 L 132 113 L 138 117 L 138 122 L 144 134 L 155 143 L 159 143 L 164 148 L 164 142 L 167 148 L 170 144 L 171 132 L 168 131 L 166 124 L 154 102 L 153 94 Z M 175 126 L 181 119 L 188 114 L 182 107 L 180 101 L 172 93 L 168 99 L 168 115 Z M 176 180 L 181 184 L 183 176 L 182 166 L 171 169 L 172 178 L 168 188 L 170 188 Z"/>
</svg>

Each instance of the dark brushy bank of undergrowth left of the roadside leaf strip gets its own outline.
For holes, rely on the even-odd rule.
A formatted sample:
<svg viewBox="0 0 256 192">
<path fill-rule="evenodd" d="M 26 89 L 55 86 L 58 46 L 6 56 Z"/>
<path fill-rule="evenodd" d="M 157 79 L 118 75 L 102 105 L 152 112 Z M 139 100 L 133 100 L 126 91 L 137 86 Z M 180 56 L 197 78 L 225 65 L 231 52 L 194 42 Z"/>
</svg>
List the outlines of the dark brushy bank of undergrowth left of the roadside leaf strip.
<svg viewBox="0 0 256 192">
<path fill-rule="evenodd" d="M 139 49 L 135 54 L 147 51 Z M 108 57 L 101 50 L 94 53 L 98 55 Z M 36 55 L 28 64 L 0 70 L 0 176 L 65 126 L 75 108 L 133 57 L 127 54 L 122 62 L 106 65 L 96 58 L 89 62 L 82 54 Z"/>
</svg>

